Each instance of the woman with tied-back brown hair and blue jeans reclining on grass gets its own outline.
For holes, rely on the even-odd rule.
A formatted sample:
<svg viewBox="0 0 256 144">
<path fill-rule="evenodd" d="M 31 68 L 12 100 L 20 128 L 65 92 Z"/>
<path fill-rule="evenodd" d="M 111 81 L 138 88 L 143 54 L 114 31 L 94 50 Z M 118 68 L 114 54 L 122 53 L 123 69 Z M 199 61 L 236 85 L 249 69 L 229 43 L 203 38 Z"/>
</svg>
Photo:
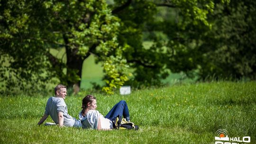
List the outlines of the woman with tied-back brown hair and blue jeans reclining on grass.
<svg viewBox="0 0 256 144">
<path fill-rule="evenodd" d="M 130 121 L 128 106 L 124 100 L 119 101 L 105 117 L 96 108 L 97 102 L 94 96 L 87 95 L 82 99 L 82 111 L 79 113 L 82 128 L 112 130 L 113 121 L 119 116 Z"/>
</svg>

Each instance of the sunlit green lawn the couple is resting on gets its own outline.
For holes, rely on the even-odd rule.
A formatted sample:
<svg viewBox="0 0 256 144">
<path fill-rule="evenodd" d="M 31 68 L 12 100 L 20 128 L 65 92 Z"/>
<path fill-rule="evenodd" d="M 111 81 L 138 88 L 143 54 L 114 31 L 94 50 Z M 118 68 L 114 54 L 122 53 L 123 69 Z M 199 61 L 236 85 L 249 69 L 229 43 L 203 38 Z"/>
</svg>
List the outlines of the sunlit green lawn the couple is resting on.
<svg viewBox="0 0 256 144">
<path fill-rule="evenodd" d="M 250 136 L 249 144 L 256 144 L 255 81 L 174 85 L 126 96 L 93 94 L 103 115 L 119 100 L 126 100 L 131 121 L 140 130 L 37 126 L 49 96 L 1 96 L 0 144 L 214 144 L 215 132 L 221 128 L 229 137 Z M 65 99 L 71 116 L 78 117 L 83 97 Z M 46 121 L 53 122 L 50 117 Z"/>
</svg>

